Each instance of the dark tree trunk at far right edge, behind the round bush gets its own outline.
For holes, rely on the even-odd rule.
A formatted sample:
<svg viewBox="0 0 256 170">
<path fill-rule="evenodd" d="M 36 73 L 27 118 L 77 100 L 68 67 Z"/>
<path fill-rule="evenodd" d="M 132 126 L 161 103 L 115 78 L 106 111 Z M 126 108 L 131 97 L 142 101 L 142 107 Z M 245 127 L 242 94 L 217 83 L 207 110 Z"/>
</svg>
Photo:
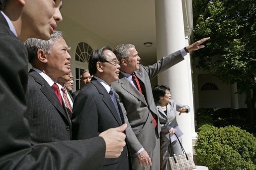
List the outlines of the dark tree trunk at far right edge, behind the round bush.
<svg viewBox="0 0 256 170">
<path fill-rule="evenodd" d="M 246 104 L 249 113 L 247 114 L 247 122 L 249 124 L 254 124 L 254 114 L 255 114 L 255 100 L 253 101 L 251 89 L 246 92 Z"/>
</svg>

